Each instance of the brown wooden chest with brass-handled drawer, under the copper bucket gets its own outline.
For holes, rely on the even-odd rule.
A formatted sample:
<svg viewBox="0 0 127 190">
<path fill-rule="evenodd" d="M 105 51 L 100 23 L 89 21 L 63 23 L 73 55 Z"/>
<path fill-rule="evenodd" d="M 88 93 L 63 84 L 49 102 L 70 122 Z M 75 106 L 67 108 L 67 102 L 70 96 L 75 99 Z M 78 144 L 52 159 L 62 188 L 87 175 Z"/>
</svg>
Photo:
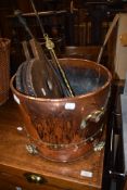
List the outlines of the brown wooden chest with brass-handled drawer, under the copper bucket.
<svg viewBox="0 0 127 190">
<path fill-rule="evenodd" d="M 72 163 L 54 163 L 26 150 L 29 143 L 16 103 L 0 106 L 0 190 L 99 190 L 104 151 Z"/>
</svg>

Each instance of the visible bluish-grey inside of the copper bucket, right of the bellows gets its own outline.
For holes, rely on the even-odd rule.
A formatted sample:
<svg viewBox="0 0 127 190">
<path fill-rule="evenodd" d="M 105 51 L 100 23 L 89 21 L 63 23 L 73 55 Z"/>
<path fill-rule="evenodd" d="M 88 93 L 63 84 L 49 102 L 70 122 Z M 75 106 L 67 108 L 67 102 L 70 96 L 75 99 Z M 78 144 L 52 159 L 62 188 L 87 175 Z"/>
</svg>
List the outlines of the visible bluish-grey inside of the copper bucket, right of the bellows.
<svg viewBox="0 0 127 190">
<path fill-rule="evenodd" d="M 91 66 L 84 63 L 79 64 L 64 64 L 63 69 L 69 81 L 69 85 L 75 96 L 93 92 L 103 87 L 109 79 L 107 73 L 100 68 L 97 64 Z"/>
</svg>

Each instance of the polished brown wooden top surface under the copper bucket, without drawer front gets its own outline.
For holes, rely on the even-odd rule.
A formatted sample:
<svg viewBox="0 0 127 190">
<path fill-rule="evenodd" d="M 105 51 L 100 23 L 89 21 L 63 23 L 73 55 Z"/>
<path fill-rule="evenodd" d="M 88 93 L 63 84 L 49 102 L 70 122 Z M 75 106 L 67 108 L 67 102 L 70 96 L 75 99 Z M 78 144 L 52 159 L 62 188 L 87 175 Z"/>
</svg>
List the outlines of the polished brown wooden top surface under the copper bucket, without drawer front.
<svg viewBox="0 0 127 190">
<path fill-rule="evenodd" d="M 51 176 L 55 182 L 68 181 L 88 189 L 101 189 L 104 150 L 91 151 L 84 159 L 72 163 L 54 163 L 26 150 L 29 143 L 23 119 L 13 100 L 0 106 L 0 165 Z M 90 188 L 91 187 L 91 188 Z"/>
</svg>

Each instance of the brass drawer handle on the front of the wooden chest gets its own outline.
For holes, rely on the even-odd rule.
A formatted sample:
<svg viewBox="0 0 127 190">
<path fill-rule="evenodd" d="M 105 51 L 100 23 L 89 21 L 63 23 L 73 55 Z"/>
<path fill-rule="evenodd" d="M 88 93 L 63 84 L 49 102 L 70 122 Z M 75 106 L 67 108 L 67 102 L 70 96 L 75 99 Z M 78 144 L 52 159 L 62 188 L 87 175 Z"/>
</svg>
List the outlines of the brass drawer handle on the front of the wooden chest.
<svg viewBox="0 0 127 190">
<path fill-rule="evenodd" d="M 25 173 L 24 176 L 28 182 L 39 183 L 39 185 L 47 182 L 47 180 L 41 175 L 38 175 L 38 174 Z"/>
</svg>

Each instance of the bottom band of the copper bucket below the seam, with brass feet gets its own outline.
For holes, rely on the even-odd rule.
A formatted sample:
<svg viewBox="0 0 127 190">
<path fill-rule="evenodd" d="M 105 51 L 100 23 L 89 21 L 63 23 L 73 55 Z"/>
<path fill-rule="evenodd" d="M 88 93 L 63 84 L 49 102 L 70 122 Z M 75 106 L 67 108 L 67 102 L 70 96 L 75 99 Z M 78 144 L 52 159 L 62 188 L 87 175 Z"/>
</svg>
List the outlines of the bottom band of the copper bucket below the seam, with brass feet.
<svg viewBox="0 0 127 190">
<path fill-rule="evenodd" d="M 27 151 L 53 162 L 74 162 L 85 157 L 91 151 L 97 151 L 102 136 L 103 128 L 100 128 L 93 137 L 77 144 L 46 144 L 45 142 L 37 143 L 33 139 L 29 139 Z"/>
</svg>

